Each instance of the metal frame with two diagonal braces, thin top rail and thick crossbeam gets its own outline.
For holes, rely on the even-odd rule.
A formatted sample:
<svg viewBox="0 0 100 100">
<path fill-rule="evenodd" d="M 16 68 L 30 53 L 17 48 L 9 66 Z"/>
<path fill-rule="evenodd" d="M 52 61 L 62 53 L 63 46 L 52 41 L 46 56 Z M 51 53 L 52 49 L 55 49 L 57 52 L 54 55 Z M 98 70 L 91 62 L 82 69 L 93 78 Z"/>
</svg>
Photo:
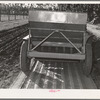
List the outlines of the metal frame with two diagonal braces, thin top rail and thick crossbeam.
<svg viewBox="0 0 100 100">
<path fill-rule="evenodd" d="M 63 32 L 61 31 L 71 31 L 71 30 L 54 30 L 54 29 L 41 29 L 41 28 L 29 28 L 29 38 L 31 38 L 31 29 L 39 29 L 39 30 L 52 30 L 52 32 L 46 36 L 42 41 L 40 41 L 37 45 L 35 45 L 32 49 L 30 49 L 30 39 L 29 39 L 29 51 L 28 51 L 28 57 L 40 57 L 40 58 L 54 58 L 54 59 L 76 59 L 76 60 L 84 60 L 85 59 L 85 54 L 84 54 L 84 51 L 81 52 L 79 50 L 79 48 L 72 42 L 68 39 L 68 37 L 66 37 L 64 35 Z M 45 52 L 36 52 L 35 49 L 38 48 L 39 46 L 41 46 L 44 42 L 47 41 L 48 38 L 50 38 L 55 32 L 58 32 L 59 34 L 61 34 L 66 41 L 69 42 L 69 44 L 72 45 L 72 47 L 74 47 L 77 51 L 78 51 L 78 54 L 59 54 L 59 53 L 45 53 Z M 76 32 L 76 30 L 73 32 Z M 77 32 L 84 32 L 84 31 L 77 31 Z M 85 34 L 85 33 L 83 33 Z M 84 38 L 83 38 L 83 41 Z M 85 43 L 83 42 L 83 47 L 85 47 Z M 84 49 L 85 50 L 85 49 Z"/>
</svg>

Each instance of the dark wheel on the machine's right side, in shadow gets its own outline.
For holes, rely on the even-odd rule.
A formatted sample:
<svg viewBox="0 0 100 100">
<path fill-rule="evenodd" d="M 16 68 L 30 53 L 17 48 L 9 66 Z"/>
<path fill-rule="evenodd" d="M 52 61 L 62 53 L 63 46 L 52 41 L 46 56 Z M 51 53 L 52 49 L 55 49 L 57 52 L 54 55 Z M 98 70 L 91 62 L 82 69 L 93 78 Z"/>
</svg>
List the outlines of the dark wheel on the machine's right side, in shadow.
<svg viewBox="0 0 100 100">
<path fill-rule="evenodd" d="M 83 71 L 86 76 L 89 76 L 92 70 L 92 46 L 86 44 L 86 58 L 83 64 Z"/>
</svg>

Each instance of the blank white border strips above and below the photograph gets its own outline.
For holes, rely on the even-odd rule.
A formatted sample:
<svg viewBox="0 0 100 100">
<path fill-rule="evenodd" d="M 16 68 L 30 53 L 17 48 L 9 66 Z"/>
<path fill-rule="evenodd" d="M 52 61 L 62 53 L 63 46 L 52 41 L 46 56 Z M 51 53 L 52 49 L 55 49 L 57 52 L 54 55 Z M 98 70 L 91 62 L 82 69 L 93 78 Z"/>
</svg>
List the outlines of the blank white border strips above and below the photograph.
<svg viewBox="0 0 100 100">
<path fill-rule="evenodd" d="M 100 1 L 0 1 L 0 3 L 100 4 Z M 99 89 L 0 89 L 0 99 L 100 99 Z"/>
</svg>

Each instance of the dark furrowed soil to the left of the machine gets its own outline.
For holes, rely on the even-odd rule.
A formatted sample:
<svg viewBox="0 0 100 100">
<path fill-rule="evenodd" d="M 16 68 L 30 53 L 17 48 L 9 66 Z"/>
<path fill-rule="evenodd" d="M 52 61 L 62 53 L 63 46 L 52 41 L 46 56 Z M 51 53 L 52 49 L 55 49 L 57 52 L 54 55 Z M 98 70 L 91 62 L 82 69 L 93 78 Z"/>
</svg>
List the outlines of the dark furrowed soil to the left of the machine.
<svg viewBox="0 0 100 100">
<path fill-rule="evenodd" d="M 9 88 L 20 72 L 19 54 L 28 25 L 0 32 L 0 88 Z"/>
</svg>

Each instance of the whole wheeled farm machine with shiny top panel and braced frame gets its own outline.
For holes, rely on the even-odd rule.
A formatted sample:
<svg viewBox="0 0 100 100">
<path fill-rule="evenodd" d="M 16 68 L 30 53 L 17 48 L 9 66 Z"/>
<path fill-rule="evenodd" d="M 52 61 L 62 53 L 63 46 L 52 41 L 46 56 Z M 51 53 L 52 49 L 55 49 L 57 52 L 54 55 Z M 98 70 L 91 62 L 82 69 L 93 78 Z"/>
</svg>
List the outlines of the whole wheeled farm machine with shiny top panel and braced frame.
<svg viewBox="0 0 100 100">
<path fill-rule="evenodd" d="M 78 62 L 80 74 L 88 78 L 92 71 L 94 35 L 87 32 L 86 26 L 86 13 L 29 11 L 29 35 L 23 38 L 20 51 L 22 71 L 29 76 L 32 62 L 39 59 Z"/>
</svg>

